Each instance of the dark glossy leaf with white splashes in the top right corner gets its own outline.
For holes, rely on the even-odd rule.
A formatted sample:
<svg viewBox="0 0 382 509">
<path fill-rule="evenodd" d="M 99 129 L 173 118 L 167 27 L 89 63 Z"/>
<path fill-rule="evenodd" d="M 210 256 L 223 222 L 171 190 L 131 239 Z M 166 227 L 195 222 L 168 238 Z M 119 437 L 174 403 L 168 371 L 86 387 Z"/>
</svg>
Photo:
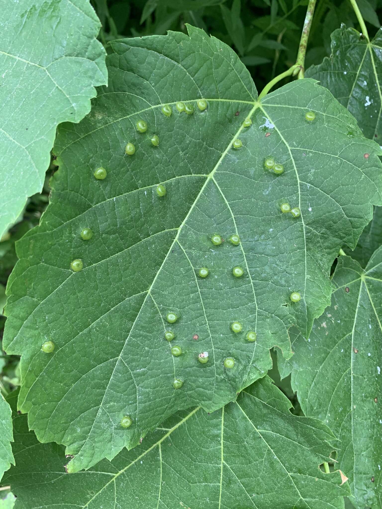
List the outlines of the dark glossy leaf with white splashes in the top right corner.
<svg viewBox="0 0 382 509">
<path fill-rule="evenodd" d="M 332 55 L 306 77 L 318 79 L 356 117 L 364 135 L 382 145 L 382 30 L 371 42 L 345 25 L 331 37 Z"/>
</svg>

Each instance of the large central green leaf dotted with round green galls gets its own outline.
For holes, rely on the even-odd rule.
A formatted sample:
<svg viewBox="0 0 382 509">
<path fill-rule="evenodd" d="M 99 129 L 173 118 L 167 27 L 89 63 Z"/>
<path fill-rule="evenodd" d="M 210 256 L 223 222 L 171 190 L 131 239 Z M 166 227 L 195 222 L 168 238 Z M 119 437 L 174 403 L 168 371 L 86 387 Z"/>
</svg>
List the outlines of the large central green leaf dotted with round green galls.
<svg viewBox="0 0 382 509">
<path fill-rule="evenodd" d="M 40 441 L 67 445 L 70 471 L 133 447 L 178 409 L 233 401 L 271 367 L 270 347 L 289 357 L 289 327 L 309 334 L 330 303 L 339 248 L 356 245 L 370 203 L 381 203 L 382 151 L 330 92 L 298 80 L 259 102 L 230 48 L 189 33 L 114 43 L 109 87 L 83 122 L 60 130 L 51 204 L 18 244 L 4 346 L 23 354 L 19 408 Z M 195 113 L 179 114 L 179 99 Z M 144 134 L 135 130 L 140 119 Z M 154 133 L 158 147 L 147 136 Z M 284 165 L 282 175 L 264 170 L 268 155 Z M 104 180 L 93 177 L 100 165 Z M 166 196 L 158 197 L 159 183 Z M 281 213 L 283 202 L 301 217 Z M 85 227 L 91 240 L 80 237 Z M 214 233 L 222 245 L 211 243 Z M 73 273 L 73 259 L 84 269 Z M 232 275 L 235 266 L 242 277 Z M 291 303 L 293 291 L 301 301 Z M 172 311 L 180 318 L 170 326 Z M 230 330 L 235 320 L 241 333 Z M 180 357 L 164 338 L 170 327 Z M 246 340 L 249 330 L 256 343 Z M 41 351 L 46 340 L 53 354 Z M 231 370 L 226 357 L 235 359 Z M 184 381 L 180 390 L 174 377 Z"/>
</svg>

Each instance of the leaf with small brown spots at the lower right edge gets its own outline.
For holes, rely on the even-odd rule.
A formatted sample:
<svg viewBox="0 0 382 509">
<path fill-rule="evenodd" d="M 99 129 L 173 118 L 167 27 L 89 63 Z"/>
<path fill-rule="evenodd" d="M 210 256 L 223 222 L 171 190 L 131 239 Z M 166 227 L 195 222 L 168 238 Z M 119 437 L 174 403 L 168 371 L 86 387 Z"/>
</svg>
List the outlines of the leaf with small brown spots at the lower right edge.
<svg viewBox="0 0 382 509">
<path fill-rule="evenodd" d="M 381 507 L 382 247 L 365 271 L 340 257 L 332 305 L 306 342 L 297 332 L 290 362 L 292 387 L 305 415 L 323 420 L 340 439 L 338 462 L 360 509 Z M 285 365 L 287 364 L 287 365 Z M 288 369 L 289 367 L 289 369 Z"/>
</svg>

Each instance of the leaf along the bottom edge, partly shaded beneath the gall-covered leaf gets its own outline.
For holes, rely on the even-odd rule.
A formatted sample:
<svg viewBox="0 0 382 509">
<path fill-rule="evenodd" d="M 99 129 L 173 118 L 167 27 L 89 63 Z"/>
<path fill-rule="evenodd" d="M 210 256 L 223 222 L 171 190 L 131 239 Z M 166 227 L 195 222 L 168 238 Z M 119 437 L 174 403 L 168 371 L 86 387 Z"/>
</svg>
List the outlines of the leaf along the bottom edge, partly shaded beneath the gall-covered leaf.
<svg viewBox="0 0 382 509">
<path fill-rule="evenodd" d="M 347 483 L 319 469 L 332 433 L 289 407 L 266 377 L 235 403 L 210 415 L 198 408 L 175 415 L 142 445 L 75 474 L 64 473 L 64 448 L 39 443 L 21 416 L 17 464 L 5 480 L 16 509 L 342 508 Z"/>
</svg>

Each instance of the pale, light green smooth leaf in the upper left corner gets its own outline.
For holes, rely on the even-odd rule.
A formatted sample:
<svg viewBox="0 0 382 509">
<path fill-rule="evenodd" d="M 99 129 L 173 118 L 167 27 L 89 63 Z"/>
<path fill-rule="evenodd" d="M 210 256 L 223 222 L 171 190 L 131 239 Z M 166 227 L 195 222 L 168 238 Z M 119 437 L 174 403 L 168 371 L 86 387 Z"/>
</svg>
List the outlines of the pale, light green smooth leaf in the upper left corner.
<svg viewBox="0 0 382 509">
<path fill-rule="evenodd" d="M 106 81 L 88 0 L 1 0 L 0 237 L 40 192 L 60 122 L 79 122 Z"/>
</svg>

